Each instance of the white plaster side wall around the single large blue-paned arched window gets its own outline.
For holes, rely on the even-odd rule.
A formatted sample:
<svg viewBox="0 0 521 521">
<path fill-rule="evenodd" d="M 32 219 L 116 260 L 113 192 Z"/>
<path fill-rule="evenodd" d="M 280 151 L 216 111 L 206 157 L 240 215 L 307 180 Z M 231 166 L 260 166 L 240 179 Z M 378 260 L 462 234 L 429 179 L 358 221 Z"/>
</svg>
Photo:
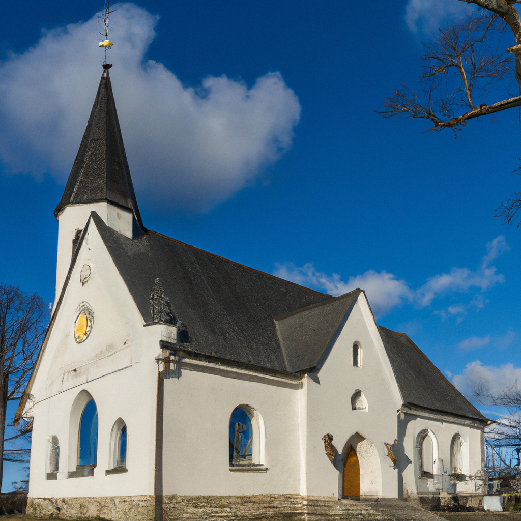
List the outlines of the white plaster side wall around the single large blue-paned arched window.
<svg viewBox="0 0 521 521">
<path fill-rule="evenodd" d="M 276 383 L 276 382 L 272 382 Z M 181 369 L 165 380 L 165 494 L 298 494 L 298 382 L 287 387 Z M 289 388 L 288 388 L 289 387 Z M 264 420 L 267 472 L 231 472 L 228 426 L 235 407 L 250 405 Z"/>
</svg>

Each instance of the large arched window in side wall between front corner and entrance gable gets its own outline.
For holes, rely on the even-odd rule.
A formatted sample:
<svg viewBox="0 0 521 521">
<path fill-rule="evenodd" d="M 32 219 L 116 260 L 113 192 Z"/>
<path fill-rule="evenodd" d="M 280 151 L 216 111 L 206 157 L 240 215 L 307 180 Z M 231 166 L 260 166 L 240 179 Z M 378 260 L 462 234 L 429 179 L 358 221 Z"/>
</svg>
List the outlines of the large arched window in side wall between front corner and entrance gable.
<svg viewBox="0 0 521 521">
<path fill-rule="evenodd" d="M 228 426 L 230 467 L 264 466 L 264 421 L 249 405 L 235 407 Z"/>
</svg>

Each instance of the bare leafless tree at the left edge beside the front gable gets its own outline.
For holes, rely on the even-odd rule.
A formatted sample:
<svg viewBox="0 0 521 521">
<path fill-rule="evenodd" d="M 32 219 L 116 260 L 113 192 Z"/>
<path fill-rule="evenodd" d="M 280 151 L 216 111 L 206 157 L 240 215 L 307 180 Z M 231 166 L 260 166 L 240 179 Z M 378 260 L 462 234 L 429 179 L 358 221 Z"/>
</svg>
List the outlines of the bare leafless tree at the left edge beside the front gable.
<svg viewBox="0 0 521 521">
<path fill-rule="evenodd" d="M 20 400 L 46 331 L 49 309 L 36 293 L 0 286 L 0 461 L 27 462 L 31 421 L 6 424 L 7 405 Z M 8 436 L 6 436 L 6 432 Z M 6 449 L 11 442 L 15 448 Z M 26 443 L 23 443 L 26 442 Z M 0 465 L 0 488 L 3 465 Z"/>
</svg>

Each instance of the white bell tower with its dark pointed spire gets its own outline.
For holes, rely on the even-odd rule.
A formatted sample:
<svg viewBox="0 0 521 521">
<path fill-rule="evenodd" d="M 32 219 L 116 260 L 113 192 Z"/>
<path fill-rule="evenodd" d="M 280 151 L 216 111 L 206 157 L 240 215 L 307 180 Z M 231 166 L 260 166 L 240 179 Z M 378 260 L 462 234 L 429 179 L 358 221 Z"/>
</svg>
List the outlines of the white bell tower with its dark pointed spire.
<svg viewBox="0 0 521 521">
<path fill-rule="evenodd" d="M 110 67 L 110 64 L 103 64 L 100 86 L 78 155 L 61 201 L 54 210 L 58 219 L 55 302 L 91 212 L 97 212 L 107 226 L 129 238 L 145 229 L 121 138 L 108 74 Z"/>
</svg>

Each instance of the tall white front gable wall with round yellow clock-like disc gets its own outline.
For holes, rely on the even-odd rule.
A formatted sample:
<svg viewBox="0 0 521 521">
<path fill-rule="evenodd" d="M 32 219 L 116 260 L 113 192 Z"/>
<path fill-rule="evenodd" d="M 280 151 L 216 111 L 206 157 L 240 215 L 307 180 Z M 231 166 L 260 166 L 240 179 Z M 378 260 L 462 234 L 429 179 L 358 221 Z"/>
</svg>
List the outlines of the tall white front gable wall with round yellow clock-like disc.
<svg viewBox="0 0 521 521">
<path fill-rule="evenodd" d="M 80 270 L 91 266 L 82 286 Z M 88 339 L 73 338 L 76 310 L 88 302 L 94 312 Z M 152 494 L 155 454 L 155 357 L 159 326 L 143 327 L 128 290 L 93 222 L 82 244 L 64 300 L 49 333 L 30 392 L 34 395 L 34 430 L 30 465 L 31 497 L 89 497 Z M 77 443 L 69 446 L 71 406 L 82 390 L 98 410 L 97 467 L 93 477 L 67 478 L 75 468 Z M 118 417 L 128 428 L 128 472 L 105 475 L 109 435 Z M 73 426 L 73 429 L 78 426 Z M 56 435 L 60 445 L 57 480 L 46 479 L 46 444 Z M 77 433 L 72 432 L 72 440 Z"/>
</svg>

